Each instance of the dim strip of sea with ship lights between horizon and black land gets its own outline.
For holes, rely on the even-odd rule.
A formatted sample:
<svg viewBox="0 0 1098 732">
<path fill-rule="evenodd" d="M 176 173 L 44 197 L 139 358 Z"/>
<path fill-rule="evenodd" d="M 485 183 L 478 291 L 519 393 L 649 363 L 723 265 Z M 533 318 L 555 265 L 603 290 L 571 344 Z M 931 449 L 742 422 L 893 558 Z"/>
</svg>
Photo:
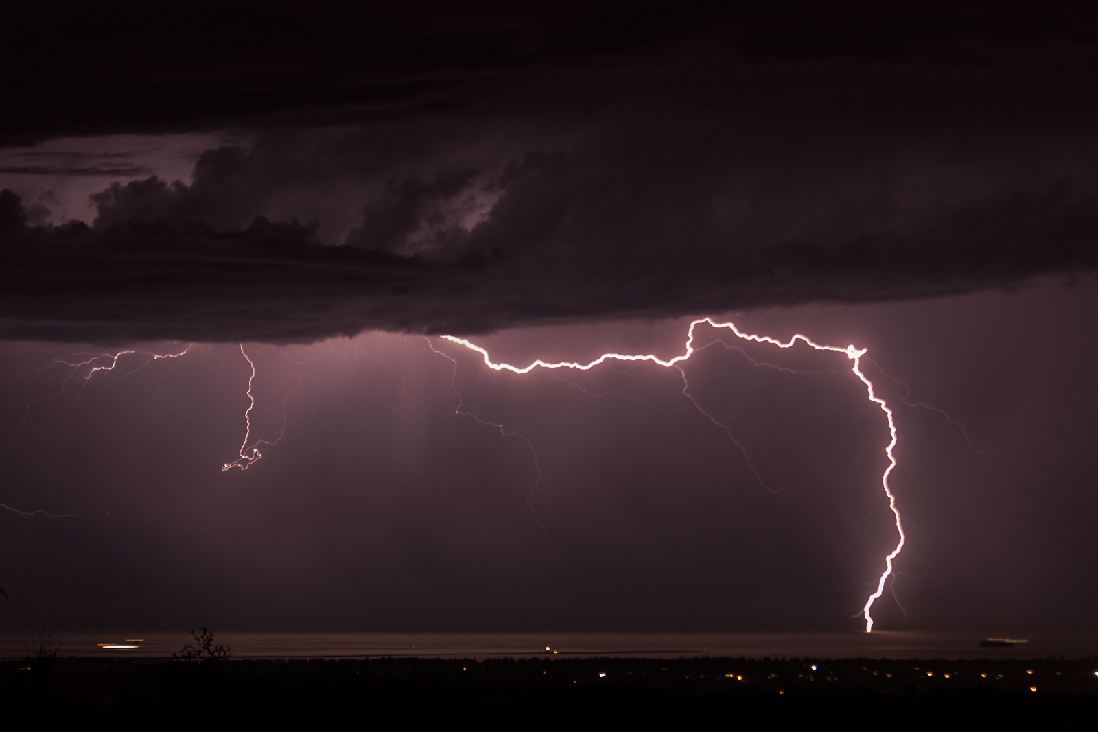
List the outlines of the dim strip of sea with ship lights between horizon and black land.
<svg viewBox="0 0 1098 732">
<path fill-rule="evenodd" d="M 828 658 L 1098 657 L 1098 635 L 1021 635 L 1028 643 L 981 647 L 975 633 L 217 633 L 237 658 L 362 658 L 382 656 L 813 656 Z M 59 655 L 170 656 L 193 642 L 189 633 L 53 632 L 0 634 L 0 656 L 33 655 L 43 640 Z M 139 643 L 125 643 L 136 641 Z M 102 649 L 103 644 L 137 645 Z M 546 649 L 549 649 L 548 651 Z"/>
</svg>

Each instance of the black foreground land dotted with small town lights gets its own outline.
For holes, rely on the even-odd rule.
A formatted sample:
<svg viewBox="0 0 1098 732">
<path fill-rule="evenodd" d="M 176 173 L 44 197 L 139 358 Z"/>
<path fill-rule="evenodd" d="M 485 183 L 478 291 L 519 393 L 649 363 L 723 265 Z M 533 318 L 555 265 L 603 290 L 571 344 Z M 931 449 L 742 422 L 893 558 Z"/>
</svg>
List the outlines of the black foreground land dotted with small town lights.
<svg viewBox="0 0 1098 732">
<path fill-rule="evenodd" d="M 158 727 L 329 718 L 399 728 L 468 720 L 1093 730 L 1096 671 L 1098 660 L 37 657 L 0 662 L 0 703 L 9 722 Z"/>
</svg>

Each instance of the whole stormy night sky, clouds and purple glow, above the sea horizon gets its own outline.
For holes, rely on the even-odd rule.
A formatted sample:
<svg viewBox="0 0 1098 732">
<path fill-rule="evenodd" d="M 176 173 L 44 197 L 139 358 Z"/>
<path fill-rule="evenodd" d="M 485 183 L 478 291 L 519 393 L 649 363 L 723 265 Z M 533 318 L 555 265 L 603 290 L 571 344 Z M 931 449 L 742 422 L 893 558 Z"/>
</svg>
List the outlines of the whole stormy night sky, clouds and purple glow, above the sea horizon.
<svg viewBox="0 0 1098 732">
<path fill-rule="evenodd" d="M 1093 7 L 4 14 L 0 628 L 860 629 L 844 353 L 441 338 L 706 316 L 867 349 L 876 628 L 1093 621 Z"/>
</svg>

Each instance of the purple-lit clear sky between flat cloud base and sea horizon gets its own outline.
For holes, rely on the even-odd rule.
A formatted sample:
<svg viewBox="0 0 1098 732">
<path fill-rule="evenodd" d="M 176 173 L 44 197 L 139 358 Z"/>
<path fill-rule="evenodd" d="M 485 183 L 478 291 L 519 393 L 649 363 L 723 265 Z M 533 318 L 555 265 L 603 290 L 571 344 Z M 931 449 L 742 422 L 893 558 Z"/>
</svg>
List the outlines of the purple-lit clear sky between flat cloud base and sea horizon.
<svg viewBox="0 0 1098 732">
<path fill-rule="evenodd" d="M 1050 622 L 1050 595 L 1085 605 L 1087 585 L 1069 579 L 1086 572 L 1090 499 L 1072 455 L 1089 435 L 1093 341 L 1046 325 L 1042 349 L 1024 350 L 1009 330 L 1088 312 L 1094 299 L 1093 284 L 1050 283 L 737 316 L 781 338 L 799 324 L 869 344 L 867 372 L 897 413 L 893 483 L 909 526 L 878 626 L 994 617 L 1009 628 Z M 519 363 L 539 346 L 563 359 L 606 346 L 668 358 L 686 325 L 478 340 Z M 249 405 L 239 348 L 161 360 L 148 354 L 186 345 L 137 348 L 91 374 L 112 359 L 70 372 L 55 359 L 77 363 L 72 347 L 9 347 L 5 504 L 94 517 L 5 513 L 9 586 L 43 598 L 18 610 L 58 624 L 89 608 L 92 622 L 179 623 L 195 605 L 226 624 L 264 606 L 268 628 L 856 624 L 895 544 L 879 410 L 842 354 L 729 348 L 716 335 L 682 363 L 688 398 L 677 372 L 653 364 L 517 376 L 421 336 L 248 346 L 251 440 L 282 439 L 246 473 L 219 470 Z M 459 395 L 478 420 L 523 439 L 456 415 Z M 919 401 L 948 409 L 976 449 L 941 413 L 910 406 Z M 1041 522 L 1067 502 L 1077 523 L 1062 519 L 1051 541 Z M 139 579 L 124 592 L 93 581 L 115 574 Z M 281 583 L 307 599 L 281 595 Z M 82 605 L 65 610 L 74 592 Z"/>
</svg>

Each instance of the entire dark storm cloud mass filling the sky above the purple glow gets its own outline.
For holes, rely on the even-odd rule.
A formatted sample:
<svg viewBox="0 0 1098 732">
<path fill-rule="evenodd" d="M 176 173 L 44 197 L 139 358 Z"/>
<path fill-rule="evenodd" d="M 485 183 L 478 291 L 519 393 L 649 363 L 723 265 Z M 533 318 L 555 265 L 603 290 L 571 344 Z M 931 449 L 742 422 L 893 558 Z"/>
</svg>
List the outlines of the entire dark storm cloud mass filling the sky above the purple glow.
<svg viewBox="0 0 1098 732">
<path fill-rule="evenodd" d="M 1074 4 L 198 3 L 48 37 L 20 12 L 3 53 L 47 60 L 15 65 L 0 138 L 250 142 L 112 183 L 91 227 L 5 199 L 5 337 L 468 333 L 1098 263 L 1098 23 Z M 97 72 L 108 35 L 141 63 Z"/>
</svg>

